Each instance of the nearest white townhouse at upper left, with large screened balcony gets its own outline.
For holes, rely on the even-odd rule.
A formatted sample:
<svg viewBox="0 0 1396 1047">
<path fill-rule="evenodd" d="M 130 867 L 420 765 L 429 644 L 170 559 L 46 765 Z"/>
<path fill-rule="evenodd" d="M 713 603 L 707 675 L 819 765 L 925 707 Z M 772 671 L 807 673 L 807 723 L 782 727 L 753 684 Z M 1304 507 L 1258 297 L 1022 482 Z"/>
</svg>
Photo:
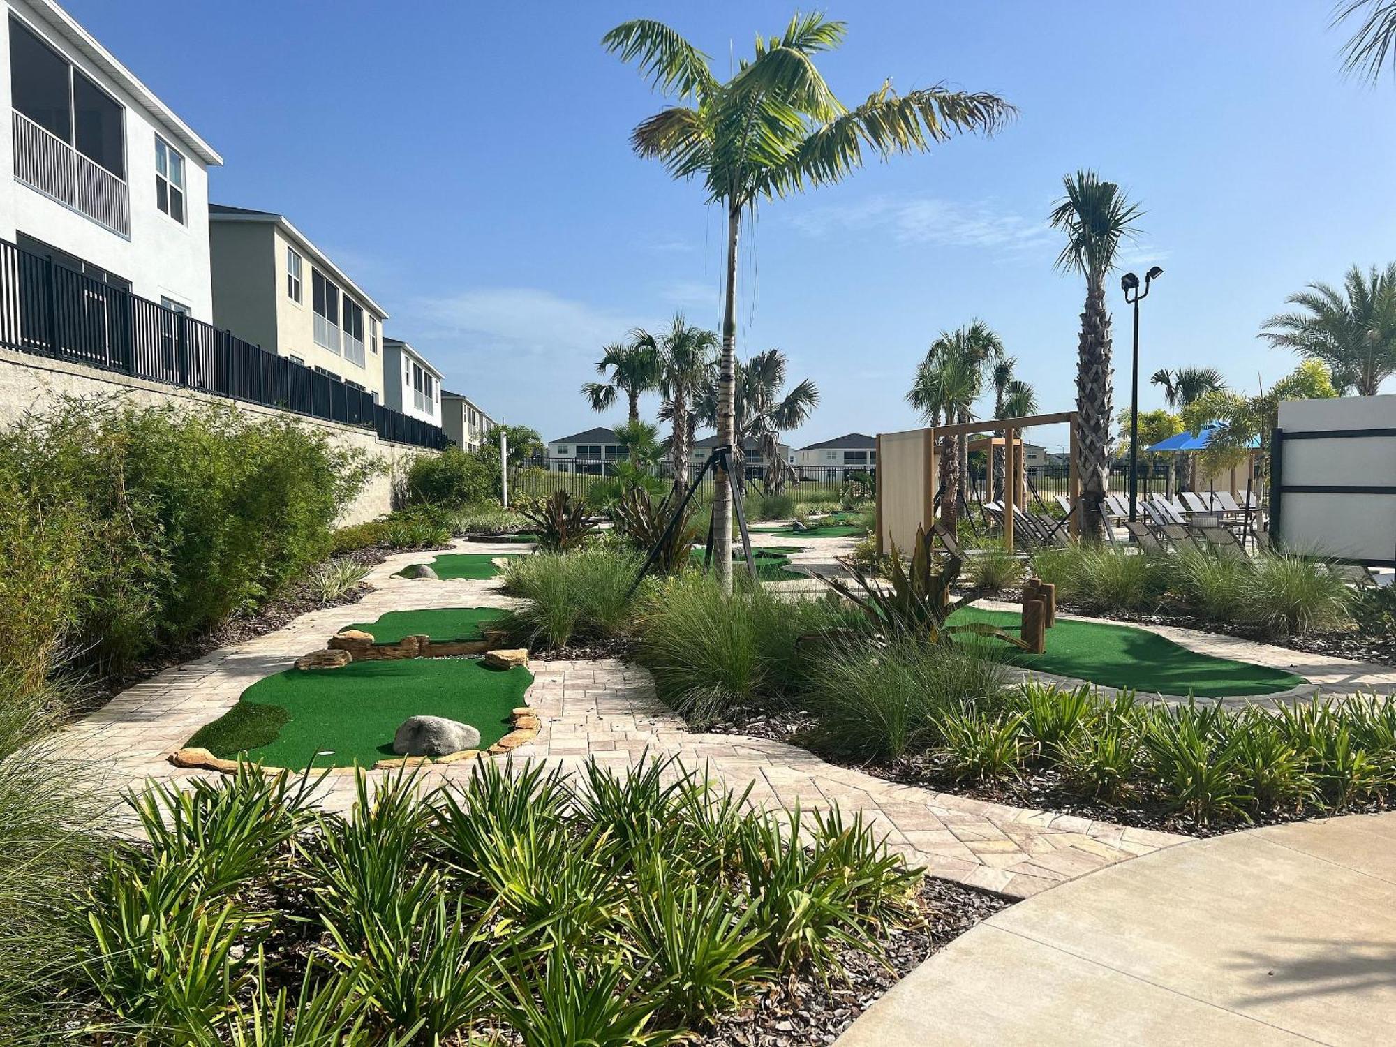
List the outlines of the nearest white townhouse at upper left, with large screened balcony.
<svg viewBox="0 0 1396 1047">
<path fill-rule="evenodd" d="M 0 239 L 212 320 L 208 168 L 222 158 L 56 3 L 4 7 Z"/>
</svg>

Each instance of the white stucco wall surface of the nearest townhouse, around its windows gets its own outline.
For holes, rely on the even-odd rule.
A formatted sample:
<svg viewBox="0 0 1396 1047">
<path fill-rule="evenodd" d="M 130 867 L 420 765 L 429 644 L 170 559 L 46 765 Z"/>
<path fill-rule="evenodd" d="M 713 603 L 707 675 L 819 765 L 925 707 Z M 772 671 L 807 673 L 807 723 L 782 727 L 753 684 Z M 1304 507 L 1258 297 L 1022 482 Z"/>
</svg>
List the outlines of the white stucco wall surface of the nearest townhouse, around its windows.
<svg viewBox="0 0 1396 1047">
<path fill-rule="evenodd" d="M 85 56 L 74 53 L 47 29 L 35 10 L 20 0 L 10 8 L 54 50 L 82 70 L 126 107 L 126 180 L 131 200 L 131 236 L 126 239 L 63 204 L 14 180 L 14 137 L 10 130 L 10 20 L 0 10 L 0 237 L 28 233 L 60 250 L 131 281 L 131 290 L 159 302 L 170 297 L 190 307 L 195 320 L 214 318 L 208 265 L 208 172 L 183 142 L 162 137 L 184 154 L 184 222 L 155 205 L 155 123 L 112 78 Z"/>
</svg>

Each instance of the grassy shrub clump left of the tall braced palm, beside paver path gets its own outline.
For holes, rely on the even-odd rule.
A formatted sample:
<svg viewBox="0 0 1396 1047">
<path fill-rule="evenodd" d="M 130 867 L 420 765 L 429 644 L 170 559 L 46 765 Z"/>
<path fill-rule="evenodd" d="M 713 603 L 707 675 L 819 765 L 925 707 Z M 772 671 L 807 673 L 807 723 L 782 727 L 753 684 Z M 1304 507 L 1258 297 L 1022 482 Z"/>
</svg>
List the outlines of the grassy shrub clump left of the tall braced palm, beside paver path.
<svg viewBox="0 0 1396 1047">
<path fill-rule="evenodd" d="M 625 635 L 639 592 L 628 591 L 639 565 L 638 554 L 613 549 L 512 557 L 501 571 L 504 591 L 529 603 L 511 610 L 500 627 L 547 646 Z"/>
</svg>

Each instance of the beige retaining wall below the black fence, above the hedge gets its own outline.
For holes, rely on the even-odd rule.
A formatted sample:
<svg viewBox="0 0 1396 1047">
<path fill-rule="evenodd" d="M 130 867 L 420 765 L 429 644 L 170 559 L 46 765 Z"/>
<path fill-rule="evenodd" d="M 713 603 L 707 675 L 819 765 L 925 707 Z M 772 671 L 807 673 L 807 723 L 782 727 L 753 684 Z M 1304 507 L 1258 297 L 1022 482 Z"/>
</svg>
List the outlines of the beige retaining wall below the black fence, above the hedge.
<svg viewBox="0 0 1396 1047">
<path fill-rule="evenodd" d="M 419 447 L 384 443 L 371 430 L 356 426 L 289 415 L 258 403 L 229 401 L 223 396 L 209 396 L 191 389 L 110 374 L 66 360 L 49 360 L 42 356 L 0 349 L 0 427 L 14 424 L 27 410 L 43 410 L 61 396 L 110 396 L 113 394 L 127 396 L 133 403 L 141 406 L 235 403 L 253 416 L 293 417 L 328 434 L 339 447 L 359 448 L 378 458 L 387 470 L 369 480 L 357 500 L 345 508 L 339 518 L 341 525 L 362 524 L 388 512 L 392 508 L 394 480 L 402 476 L 416 455 L 430 454 Z"/>
</svg>

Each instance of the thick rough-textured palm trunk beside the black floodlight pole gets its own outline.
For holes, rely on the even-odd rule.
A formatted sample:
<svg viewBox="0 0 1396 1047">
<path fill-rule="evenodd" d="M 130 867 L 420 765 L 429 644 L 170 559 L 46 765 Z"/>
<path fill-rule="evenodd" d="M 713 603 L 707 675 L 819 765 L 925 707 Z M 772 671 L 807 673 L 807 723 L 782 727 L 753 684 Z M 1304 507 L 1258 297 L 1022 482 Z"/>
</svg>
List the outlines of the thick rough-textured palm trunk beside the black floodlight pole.
<svg viewBox="0 0 1396 1047">
<path fill-rule="evenodd" d="M 1082 536 L 1092 540 L 1101 536 L 1101 510 L 1110 482 L 1113 377 L 1104 279 L 1087 278 L 1076 346 L 1076 410 L 1081 416 L 1076 468 L 1081 470 Z"/>
</svg>

